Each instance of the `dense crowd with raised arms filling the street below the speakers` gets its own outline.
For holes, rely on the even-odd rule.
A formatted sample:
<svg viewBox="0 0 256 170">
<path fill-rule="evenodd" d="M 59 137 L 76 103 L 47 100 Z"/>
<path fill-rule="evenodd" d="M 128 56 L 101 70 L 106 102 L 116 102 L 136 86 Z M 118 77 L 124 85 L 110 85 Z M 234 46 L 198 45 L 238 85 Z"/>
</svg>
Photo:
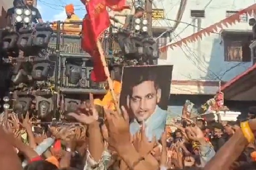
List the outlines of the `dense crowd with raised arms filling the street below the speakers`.
<svg viewBox="0 0 256 170">
<path fill-rule="evenodd" d="M 256 107 L 248 121 L 207 122 L 191 117 L 166 126 L 160 139 L 146 137 L 146 123 L 131 134 L 129 116 L 95 105 L 93 95 L 76 113 L 79 125 L 33 125 L 33 117 L 9 113 L 0 127 L 1 170 L 253 170 Z M 220 116 L 218 116 L 220 118 Z M 240 126 L 241 125 L 241 126 Z M 172 130 L 171 130 L 172 129 Z M 173 130 L 176 129 L 176 130 Z"/>
</svg>

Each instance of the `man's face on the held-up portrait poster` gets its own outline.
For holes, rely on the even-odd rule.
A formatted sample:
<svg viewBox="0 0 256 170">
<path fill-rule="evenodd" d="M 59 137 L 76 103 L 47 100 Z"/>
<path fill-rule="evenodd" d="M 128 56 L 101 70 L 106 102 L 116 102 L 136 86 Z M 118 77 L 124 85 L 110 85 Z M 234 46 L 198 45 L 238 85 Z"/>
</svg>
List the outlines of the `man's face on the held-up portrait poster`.
<svg viewBox="0 0 256 170">
<path fill-rule="evenodd" d="M 127 106 L 141 122 L 154 113 L 160 98 L 161 89 L 157 89 L 153 81 L 144 81 L 132 88 L 131 96 L 127 97 Z"/>
</svg>

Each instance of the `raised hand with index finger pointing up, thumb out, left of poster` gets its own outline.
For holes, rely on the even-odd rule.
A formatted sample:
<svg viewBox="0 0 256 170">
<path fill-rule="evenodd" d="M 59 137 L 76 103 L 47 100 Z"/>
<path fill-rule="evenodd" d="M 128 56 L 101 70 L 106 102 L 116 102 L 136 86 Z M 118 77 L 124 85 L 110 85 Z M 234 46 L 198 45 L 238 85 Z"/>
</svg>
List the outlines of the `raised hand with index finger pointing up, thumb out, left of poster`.
<svg viewBox="0 0 256 170">
<path fill-rule="evenodd" d="M 93 103 L 93 94 L 90 94 L 90 105 L 82 105 L 80 112 L 81 113 L 68 113 L 68 115 L 73 116 L 78 122 L 87 125 L 90 125 L 99 119 L 99 113 L 96 111 Z"/>
</svg>

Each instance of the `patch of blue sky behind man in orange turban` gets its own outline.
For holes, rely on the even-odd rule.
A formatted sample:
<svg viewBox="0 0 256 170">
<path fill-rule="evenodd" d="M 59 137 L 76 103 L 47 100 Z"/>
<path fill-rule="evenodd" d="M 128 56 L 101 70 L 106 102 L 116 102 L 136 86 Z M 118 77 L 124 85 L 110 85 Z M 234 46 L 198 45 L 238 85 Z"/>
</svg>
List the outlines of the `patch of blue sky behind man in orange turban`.
<svg viewBox="0 0 256 170">
<path fill-rule="evenodd" d="M 63 21 L 67 17 L 64 6 L 70 3 L 75 6 L 75 13 L 82 19 L 86 11 L 80 0 L 38 0 L 37 8 L 44 21 Z"/>
</svg>

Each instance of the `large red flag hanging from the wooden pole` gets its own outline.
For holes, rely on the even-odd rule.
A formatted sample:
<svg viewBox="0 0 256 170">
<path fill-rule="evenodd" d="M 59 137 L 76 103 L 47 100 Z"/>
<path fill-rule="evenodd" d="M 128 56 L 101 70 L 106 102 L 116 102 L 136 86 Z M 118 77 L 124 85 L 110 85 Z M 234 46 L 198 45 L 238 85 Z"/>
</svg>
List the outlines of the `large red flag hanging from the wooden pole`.
<svg viewBox="0 0 256 170">
<path fill-rule="evenodd" d="M 107 79 L 96 42 L 110 25 L 108 11 L 104 0 L 90 0 L 86 4 L 87 16 L 83 20 L 82 48 L 93 57 L 91 79 L 102 82 Z"/>
</svg>

